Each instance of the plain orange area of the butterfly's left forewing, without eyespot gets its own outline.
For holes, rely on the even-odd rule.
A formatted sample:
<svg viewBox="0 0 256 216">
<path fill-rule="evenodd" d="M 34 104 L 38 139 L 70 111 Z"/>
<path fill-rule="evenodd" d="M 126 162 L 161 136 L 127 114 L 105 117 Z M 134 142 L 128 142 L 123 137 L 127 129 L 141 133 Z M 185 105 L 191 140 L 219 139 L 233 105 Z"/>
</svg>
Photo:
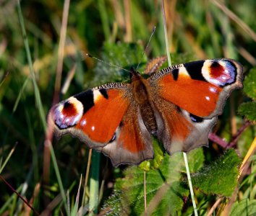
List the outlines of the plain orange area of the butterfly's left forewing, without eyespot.
<svg viewBox="0 0 256 216">
<path fill-rule="evenodd" d="M 99 96 L 94 103 L 82 116 L 76 128 L 94 142 L 108 143 L 127 111 L 129 101 L 124 98 L 124 91 L 108 89 L 108 99 Z"/>
</svg>

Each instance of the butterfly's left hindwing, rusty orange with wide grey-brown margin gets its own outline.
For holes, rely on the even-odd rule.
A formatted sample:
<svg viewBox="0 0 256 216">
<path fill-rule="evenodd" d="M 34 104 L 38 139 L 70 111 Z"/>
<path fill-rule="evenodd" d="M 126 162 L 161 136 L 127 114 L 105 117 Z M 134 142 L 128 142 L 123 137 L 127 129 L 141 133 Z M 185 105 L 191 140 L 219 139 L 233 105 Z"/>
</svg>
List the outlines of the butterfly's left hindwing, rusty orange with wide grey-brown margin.
<svg viewBox="0 0 256 216">
<path fill-rule="evenodd" d="M 97 150 L 111 158 L 114 166 L 121 163 L 138 164 L 153 158 L 150 132 L 145 127 L 140 109 L 135 102 L 130 104 L 119 127 L 117 127 L 114 140 Z"/>
</svg>

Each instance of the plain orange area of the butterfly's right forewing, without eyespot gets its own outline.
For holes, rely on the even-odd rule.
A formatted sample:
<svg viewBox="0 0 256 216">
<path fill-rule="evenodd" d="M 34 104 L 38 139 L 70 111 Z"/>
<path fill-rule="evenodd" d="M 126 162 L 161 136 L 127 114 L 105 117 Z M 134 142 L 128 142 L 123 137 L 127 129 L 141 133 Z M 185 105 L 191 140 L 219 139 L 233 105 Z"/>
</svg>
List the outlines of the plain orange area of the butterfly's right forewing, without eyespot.
<svg viewBox="0 0 256 216">
<path fill-rule="evenodd" d="M 218 95 L 222 91 L 218 86 L 184 74 L 176 81 L 171 74 L 163 76 L 159 78 L 158 86 L 159 96 L 199 117 L 208 117 L 216 109 Z"/>
</svg>

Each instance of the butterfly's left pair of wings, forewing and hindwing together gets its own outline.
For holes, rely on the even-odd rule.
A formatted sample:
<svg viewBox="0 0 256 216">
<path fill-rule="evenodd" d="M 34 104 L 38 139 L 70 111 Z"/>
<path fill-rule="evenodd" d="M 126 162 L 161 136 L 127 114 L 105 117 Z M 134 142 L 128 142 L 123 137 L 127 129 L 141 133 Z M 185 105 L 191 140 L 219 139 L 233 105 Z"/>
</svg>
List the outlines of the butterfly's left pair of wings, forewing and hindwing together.
<svg viewBox="0 0 256 216">
<path fill-rule="evenodd" d="M 69 97 L 54 106 L 49 122 L 56 135 L 71 134 L 120 163 L 153 158 L 150 135 L 144 130 L 129 84 L 106 84 Z"/>
</svg>

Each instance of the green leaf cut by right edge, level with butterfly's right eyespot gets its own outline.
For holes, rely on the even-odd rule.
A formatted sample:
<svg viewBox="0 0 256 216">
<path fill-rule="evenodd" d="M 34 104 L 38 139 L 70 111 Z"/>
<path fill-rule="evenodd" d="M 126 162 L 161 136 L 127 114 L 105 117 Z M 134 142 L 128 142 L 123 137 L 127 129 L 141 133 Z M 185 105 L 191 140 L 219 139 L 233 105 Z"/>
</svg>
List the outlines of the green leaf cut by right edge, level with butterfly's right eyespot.
<svg viewBox="0 0 256 216">
<path fill-rule="evenodd" d="M 244 92 L 251 97 L 256 99 L 256 68 L 252 68 L 248 75 L 244 78 Z"/>
</svg>

